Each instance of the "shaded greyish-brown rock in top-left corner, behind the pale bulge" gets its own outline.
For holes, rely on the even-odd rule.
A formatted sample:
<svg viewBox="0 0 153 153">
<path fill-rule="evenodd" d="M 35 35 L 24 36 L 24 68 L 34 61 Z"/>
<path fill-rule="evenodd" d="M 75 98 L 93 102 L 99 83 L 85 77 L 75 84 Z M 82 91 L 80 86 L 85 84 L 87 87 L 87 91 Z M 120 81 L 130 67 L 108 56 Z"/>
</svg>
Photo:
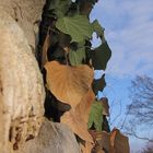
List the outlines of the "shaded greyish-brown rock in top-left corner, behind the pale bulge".
<svg viewBox="0 0 153 153">
<path fill-rule="evenodd" d="M 4 10 L 19 23 L 33 49 L 44 3 L 45 0 L 0 0 L 0 10 Z"/>
</svg>

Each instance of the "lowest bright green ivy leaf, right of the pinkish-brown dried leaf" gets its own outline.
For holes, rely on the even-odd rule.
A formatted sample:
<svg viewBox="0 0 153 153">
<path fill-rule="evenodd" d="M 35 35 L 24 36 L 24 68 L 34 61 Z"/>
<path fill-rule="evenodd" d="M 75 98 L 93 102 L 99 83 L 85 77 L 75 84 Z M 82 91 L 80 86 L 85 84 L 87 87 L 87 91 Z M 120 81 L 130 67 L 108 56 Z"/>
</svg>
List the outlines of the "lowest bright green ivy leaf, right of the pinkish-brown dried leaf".
<svg viewBox="0 0 153 153">
<path fill-rule="evenodd" d="M 91 107 L 91 113 L 90 113 L 90 118 L 89 118 L 89 123 L 87 128 L 94 128 L 97 131 L 102 131 L 102 125 L 103 125 L 103 106 L 99 102 L 94 101 Z"/>
</svg>

